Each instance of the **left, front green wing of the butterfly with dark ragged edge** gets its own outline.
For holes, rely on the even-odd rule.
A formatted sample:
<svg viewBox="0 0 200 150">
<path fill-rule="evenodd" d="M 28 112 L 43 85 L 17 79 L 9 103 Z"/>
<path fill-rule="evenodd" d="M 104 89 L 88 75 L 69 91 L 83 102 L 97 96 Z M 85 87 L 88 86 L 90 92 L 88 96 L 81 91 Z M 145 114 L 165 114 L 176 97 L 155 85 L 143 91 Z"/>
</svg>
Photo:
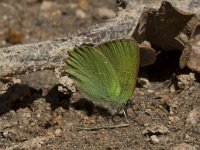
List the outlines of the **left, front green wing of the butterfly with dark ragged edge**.
<svg viewBox="0 0 200 150">
<path fill-rule="evenodd" d="M 67 72 L 93 100 L 110 102 L 121 92 L 120 83 L 108 59 L 97 49 L 81 47 L 69 53 Z"/>
</svg>

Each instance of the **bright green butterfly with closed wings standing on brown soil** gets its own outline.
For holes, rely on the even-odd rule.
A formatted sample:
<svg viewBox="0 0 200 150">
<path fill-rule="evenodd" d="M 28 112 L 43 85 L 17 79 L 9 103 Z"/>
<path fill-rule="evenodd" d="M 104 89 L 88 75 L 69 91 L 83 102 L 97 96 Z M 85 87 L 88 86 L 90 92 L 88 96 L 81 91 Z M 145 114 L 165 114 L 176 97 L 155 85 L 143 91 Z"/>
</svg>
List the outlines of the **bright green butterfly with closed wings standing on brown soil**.
<svg viewBox="0 0 200 150">
<path fill-rule="evenodd" d="M 69 52 L 67 72 L 93 102 L 120 108 L 134 92 L 139 57 L 138 44 L 132 39 L 83 46 Z"/>
</svg>

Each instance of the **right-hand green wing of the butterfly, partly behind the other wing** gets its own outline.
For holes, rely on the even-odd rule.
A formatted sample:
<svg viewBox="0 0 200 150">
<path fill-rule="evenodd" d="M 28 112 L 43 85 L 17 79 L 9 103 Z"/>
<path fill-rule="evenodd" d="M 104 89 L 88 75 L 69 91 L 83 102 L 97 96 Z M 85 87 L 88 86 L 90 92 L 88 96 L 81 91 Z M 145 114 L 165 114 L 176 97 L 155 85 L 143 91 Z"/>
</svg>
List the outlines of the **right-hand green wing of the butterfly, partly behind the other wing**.
<svg viewBox="0 0 200 150">
<path fill-rule="evenodd" d="M 115 99 L 124 104 L 132 96 L 139 68 L 139 47 L 132 39 L 121 39 L 96 46 L 114 68 L 121 86 L 121 94 Z"/>
</svg>

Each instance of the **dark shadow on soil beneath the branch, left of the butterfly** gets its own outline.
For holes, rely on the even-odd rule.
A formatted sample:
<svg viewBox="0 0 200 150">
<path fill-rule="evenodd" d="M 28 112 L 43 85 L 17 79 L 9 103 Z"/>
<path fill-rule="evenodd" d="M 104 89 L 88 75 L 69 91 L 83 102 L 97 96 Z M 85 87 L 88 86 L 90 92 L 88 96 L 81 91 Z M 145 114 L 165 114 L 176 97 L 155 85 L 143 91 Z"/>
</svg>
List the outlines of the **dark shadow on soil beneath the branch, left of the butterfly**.
<svg viewBox="0 0 200 150">
<path fill-rule="evenodd" d="M 50 103 L 52 111 L 58 107 L 69 109 L 70 95 L 63 94 L 57 89 L 58 85 L 55 85 L 46 96 L 42 96 L 42 89 L 36 90 L 26 84 L 14 84 L 0 95 L 0 116 L 10 110 L 16 111 L 26 107 L 32 109 L 31 105 L 39 98 L 44 98 L 47 103 Z"/>
</svg>

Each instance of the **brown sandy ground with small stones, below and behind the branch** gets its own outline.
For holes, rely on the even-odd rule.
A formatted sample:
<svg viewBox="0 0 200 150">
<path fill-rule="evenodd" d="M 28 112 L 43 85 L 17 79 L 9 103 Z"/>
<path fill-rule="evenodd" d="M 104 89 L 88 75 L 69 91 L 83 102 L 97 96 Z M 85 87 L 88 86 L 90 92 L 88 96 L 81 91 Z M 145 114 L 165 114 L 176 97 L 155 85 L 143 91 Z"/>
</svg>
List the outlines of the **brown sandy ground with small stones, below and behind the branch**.
<svg viewBox="0 0 200 150">
<path fill-rule="evenodd" d="M 116 11 L 112 0 L 2 0 L 0 47 L 65 37 Z M 111 117 L 88 101 L 70 102 L 70 95 L 49 86 L 56 81 L 51 71 L 19 77 L 27 78 L 29 86 L 0 82 L 0 149 L 200 149 L 200 76 L 180 70 L 179 56 L 164 53 L 140 69 L 127 106 L 130 126 L 123 128 L 80 130 L 82 125 L 121 125 L 125 118 Z"/>
</svg>

